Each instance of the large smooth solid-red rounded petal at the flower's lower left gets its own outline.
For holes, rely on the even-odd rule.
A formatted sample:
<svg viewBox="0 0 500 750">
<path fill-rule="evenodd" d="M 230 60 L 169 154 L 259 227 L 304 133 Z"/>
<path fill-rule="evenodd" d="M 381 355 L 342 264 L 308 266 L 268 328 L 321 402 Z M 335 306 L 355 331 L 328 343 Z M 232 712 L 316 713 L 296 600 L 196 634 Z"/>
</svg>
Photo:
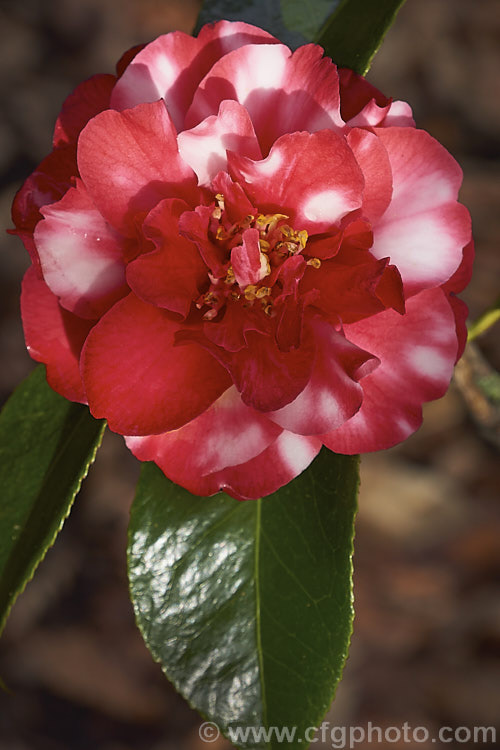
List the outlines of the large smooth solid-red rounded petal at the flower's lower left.
<svg viewBox="0 0 500 750">
<path fill-rule="evenodd" d="M 92 329 L 82 375 L 92 414 L 122 435 L 174 430 L 230 385 L 225 370 L 193 342 L 175 345 L 179 324 L 130 294 Z"/>
</svg>

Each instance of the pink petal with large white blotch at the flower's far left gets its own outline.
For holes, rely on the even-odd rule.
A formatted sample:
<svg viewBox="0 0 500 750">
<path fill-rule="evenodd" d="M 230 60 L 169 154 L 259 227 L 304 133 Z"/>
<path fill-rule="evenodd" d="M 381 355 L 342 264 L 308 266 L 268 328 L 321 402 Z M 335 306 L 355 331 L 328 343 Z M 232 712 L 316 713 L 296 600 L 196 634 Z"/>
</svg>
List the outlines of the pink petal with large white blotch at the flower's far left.
<svg viewBox="0 0 500 750">
<path fill-rule="evenodd" d="M 99 318 L 128 292 L 122 238 L 81 182 L 41 212 L 34 236 L 45 282 L 67 310 Z"/>
</svg>

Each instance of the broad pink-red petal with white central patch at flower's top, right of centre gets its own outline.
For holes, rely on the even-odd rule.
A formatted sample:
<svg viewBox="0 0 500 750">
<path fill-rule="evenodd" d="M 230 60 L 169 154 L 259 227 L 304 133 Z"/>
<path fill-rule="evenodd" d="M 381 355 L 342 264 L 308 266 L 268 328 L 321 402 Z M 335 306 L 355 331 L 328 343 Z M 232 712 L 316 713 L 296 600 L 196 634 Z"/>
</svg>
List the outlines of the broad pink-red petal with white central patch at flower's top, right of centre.
<svg viewBox="0 0 500 750">
<path fill-rule="evenodd" d="M 337 68 L 315 44 L 293 54 L 284 45 L 248 45 L 225 55 L 197 88 L 186 127 L 216 114 L 224 99 L 246 107 L 263 154 L 285 133 L 344 125 Z"/>
</svg>

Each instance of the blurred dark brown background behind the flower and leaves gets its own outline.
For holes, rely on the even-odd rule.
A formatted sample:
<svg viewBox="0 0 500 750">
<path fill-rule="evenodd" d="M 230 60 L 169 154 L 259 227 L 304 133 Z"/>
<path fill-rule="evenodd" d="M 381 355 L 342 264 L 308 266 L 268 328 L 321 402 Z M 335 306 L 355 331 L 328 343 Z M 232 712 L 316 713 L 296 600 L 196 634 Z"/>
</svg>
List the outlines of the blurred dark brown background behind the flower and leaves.
<svg viewBox="0 0 500 750">
<path fill-rule="evenodd" d="M 1 0 L 5 228 L 15 190 L 50 148 L 65 96 L 82 79 L 113 70 L 128 47 L 189 31 L 197 5 Z M 499 63 L 498 0 L 408 0 L 370 74 L 384 93 L 411 102 L 418 125 L 464 168 L 462 200 L 477 245 L 465 295 L 472 318 L 500 286 Z M 0 243 L 3 400 L 32 363 L 18 312 L 26 254 L 4 233 Z M 499 333 L 497 325 L 481 341 L 497 367 Z M 408 722 L 431 733 L 441 725 L 498 727 L 498 455 L 454 386 L 429 405 L 423 428 L 404 446 L 363 460 L 357 617 L 327 717 L 332 725 Z M 0 676 L 11 689 L 0 694 L 0 750 L 207 747 L 197 715 L 170 688 L 134 625 L 125 545 L 137 473 L 121 440 L 108 434 L 63 533 L 12 612 L 0 643 Z"/>
</svg>

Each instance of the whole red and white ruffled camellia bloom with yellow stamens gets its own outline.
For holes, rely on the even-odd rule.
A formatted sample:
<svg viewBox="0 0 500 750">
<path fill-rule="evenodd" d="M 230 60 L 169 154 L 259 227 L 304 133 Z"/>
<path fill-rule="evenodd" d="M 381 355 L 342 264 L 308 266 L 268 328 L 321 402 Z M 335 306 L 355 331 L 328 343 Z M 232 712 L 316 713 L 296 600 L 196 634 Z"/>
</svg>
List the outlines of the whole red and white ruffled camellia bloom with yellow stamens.
<svg viewBox="0 0 500 750">
<path fill-rule="evenodd" d="M 460 168 L 317 45 L 166 34 L 81 84 L 53 145 L 13 208 L 28 349 L 175 482 L 266 495 L 322 445 L 405 439 L 445 392 Z"/>
</svg>

